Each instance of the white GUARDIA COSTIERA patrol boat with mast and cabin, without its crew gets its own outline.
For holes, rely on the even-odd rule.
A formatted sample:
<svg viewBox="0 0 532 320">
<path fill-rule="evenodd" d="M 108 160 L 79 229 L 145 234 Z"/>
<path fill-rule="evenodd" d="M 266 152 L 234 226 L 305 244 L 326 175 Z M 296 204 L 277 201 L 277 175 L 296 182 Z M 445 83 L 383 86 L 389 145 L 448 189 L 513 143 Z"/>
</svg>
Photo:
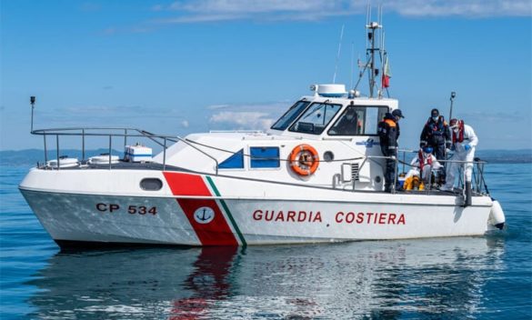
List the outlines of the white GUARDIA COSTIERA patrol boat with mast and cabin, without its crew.
<svg viewBox="0 0 532 320">
<path fill-rule="evenodd" d="M 45 161 L 19 189 L 61 247 L 280 245 L 497 232 L 505 216 L 487 190 L 486 162 L 479 159 L 470 192 L 463 181 L 451 191 L 394 186 L 384 192 L 386 156 L 377 124 L 399 105 L 384 77 L 378 84 L 376 55 L 387 58 L 375 41 L 382 25 L 366 28 L 361 77 L 369 75 L 369 95 L 357 86 L 311 85 L 312 94 L 266 131 L 180 137 L 137 128 L 36 130 L 32 97 L 31 133 L 44 137 Z M 380 69 L 386 75 L 386 64 Z M 356 125 L 343 127 L 353 114 Z M 61 155 L 61 139 L 72 136 L 81 140 L 81 159 Z M 87 158 L 85 140 L 102 136 L 108 153 Z M 122 157 L 114 155 L 116 140 Z M 152 155 L 150 144 L 161 151 Z M 396 167 L 399 158 L 393 158 Z"/>
</svg>

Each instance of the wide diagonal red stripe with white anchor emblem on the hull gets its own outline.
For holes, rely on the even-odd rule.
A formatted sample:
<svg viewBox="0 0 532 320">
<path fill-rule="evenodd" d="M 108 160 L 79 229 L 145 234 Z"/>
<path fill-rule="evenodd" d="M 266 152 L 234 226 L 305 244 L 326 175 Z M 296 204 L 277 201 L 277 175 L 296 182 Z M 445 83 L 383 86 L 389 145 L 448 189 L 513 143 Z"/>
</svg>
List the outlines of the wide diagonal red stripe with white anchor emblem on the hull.
<svg viewBox="0 0 532 320">
<path fill-rule="evenodd" d="M 200 175 L 167 172 L 164 175 L 173 195 L 211 196 L 211 192 Z M 238 245 L 233 231 L 227 224 L 226 217 L 216 204 L 216 200 L 179 198 L 176 200 L 185 212 L 188 222 L 194 228 L 201 245 Z M 194 214 L 201 207 L 209 207 L 215 213 L 215 217 L 209 223 L 200 224 L 196 221 Z"/>
</svg>

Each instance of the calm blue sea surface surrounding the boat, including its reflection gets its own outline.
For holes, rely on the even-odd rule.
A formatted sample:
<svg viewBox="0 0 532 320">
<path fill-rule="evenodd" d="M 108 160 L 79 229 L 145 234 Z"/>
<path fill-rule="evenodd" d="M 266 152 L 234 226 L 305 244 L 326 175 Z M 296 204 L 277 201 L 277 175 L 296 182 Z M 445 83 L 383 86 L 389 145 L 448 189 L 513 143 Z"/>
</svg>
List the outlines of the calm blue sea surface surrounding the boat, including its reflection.
<svg viewBox="0 0 532 320">
<path fill-rule="evenodd" d="M 532 165 L 488 165 L 507 230 L 336 245 L 59 253 L 0 167 L 0 318 L 530 319 Z"/>
</svg>

